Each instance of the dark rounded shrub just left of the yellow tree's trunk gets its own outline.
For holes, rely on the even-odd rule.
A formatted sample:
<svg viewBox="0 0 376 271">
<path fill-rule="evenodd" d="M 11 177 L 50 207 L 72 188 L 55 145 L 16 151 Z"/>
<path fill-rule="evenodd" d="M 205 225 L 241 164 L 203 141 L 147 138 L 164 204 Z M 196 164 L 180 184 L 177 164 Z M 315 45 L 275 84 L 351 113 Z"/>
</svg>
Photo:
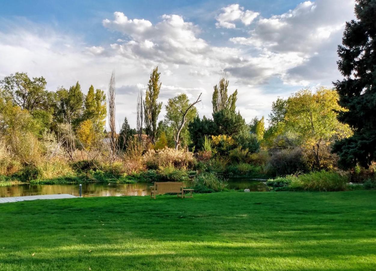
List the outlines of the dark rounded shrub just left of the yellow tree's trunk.
<svg viewBox="0 0 376 271">
<path fill-rule="evenodd" d="M 309 167 L 302 149 L 294 148 L 274 153 L 268 161 L 266 170 L 270 175 L 278 176 L 308 171 Z"/>
</svg>

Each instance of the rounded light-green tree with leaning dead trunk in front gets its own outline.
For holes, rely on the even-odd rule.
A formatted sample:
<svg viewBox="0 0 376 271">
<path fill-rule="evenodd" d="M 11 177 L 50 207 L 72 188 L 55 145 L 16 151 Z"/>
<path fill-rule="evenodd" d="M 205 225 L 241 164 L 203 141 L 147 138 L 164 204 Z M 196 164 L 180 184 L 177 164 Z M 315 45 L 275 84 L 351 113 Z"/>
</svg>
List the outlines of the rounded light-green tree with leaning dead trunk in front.
<svg viewBox="0 0 376 271">
<path fill-rule="evenodd" d="M 185 93 L 168 99 L 165 118 L 168 125 L 171 126 L 174 131 L 175 149 L 180 145 L 182 138 L 185 138 L 185 141 L 189 141 L 187 128 L 188 124 L 197 116 L 197 109 L 194 105 L 200 102 L 200 96 L 194 103 L 190 103 Z M 188 138 L 186 138 L 187 136 Z M 188 142 L 185 143 L 186 145 L 188 144 Z"/>
</svg>

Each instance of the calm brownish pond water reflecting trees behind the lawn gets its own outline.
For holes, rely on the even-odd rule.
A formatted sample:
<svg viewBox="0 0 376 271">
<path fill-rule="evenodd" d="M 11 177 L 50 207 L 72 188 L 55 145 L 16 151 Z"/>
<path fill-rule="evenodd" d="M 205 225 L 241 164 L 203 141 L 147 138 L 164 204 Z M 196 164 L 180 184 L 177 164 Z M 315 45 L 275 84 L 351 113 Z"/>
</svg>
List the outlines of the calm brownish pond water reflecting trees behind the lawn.
<svg viewBox="0 0 376 271">
<path fill-rule="evenodd" d="M 116 184 L 116 183 L 83 183 L 82 196 L 147 196 L 152 184 Z M 189 186 L 189 182 L 186 183 Z M 230 178 L 230 189 L 250 189 L 250 191 L 269 191 L 263 180 Z M 79 184 L 18 184 L 0 187 L 0 198 L 36 196 L 47 194 L 71 194 L 79 196 Z"/>
</svg>

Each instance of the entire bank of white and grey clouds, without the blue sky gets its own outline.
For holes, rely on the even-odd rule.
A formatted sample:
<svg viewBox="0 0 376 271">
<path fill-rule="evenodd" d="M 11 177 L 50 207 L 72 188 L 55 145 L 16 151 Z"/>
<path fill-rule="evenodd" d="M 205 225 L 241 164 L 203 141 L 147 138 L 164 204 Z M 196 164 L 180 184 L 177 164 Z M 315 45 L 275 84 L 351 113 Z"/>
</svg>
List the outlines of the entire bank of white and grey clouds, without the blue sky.
<svg viewBox="0 0 376 271">
<path fill-rule="evenodd" d="M 156 66 L 161 72 L 164 105 L 179 93 L 194 99 L 203 92 L 203 105 L 198 107 L 201 116 L 211 116 L 212 89 L 226 71 L 229 92 L 238 89 L 238 109 L 247 121 L 267 115 L 277 96 L 302 85 L 330 86 L 340 78 L 336 46 L 344 22 L 353 18 L 352 0 L 304 2 L 269 18 L 230 6 L 223 10 L 223 14 L 229 11 L 226 16 L 217 17 L 220 27 L 254 23 L 244 29 L 244 33 L 250 30 L 248 34 L 231 38 L 227 46 L 204 40 L 199 26 L 180 15 L 165 14 L 152 24 L 115 12 L 112 20 L 103 20 L 103 26 L 114 32 L 117 41 L 107 45 L 101 41 L 101 46 L 27 23 L 25 28 L 0 32 L 0 79 L 25 71 L 30 76 L 43 75 L 50 90 L 79 80 L 86 92 L 91 84 L 106 90 L 115 70 L 117 119 L 127 116 L 134 126 L 137 95 Z M 163 115 L 164 111 L 160 118 Z"/>
</svg>

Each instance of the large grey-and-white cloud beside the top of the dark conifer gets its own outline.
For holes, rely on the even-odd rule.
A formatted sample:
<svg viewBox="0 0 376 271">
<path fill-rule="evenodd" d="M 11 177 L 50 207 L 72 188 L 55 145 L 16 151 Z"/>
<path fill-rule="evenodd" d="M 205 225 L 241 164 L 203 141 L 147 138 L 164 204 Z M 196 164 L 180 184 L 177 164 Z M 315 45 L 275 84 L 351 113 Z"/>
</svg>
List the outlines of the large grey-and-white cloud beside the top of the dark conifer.
<svg viewBox="0 0 376 271">
<path fill-rule="evenodd" d="M 353 7 L 353 0 L 306 1 L 281 15 L 259 18 L 248 37 L 230 41 L 273 54 L 272 62 L 283 66 L 274 70 L 285 84 L 309 85 L 320 79 L 330 84 L 329 78 L 340 76 L 336 46 L 345 21 L 353 18 Z"/>
</svg>

